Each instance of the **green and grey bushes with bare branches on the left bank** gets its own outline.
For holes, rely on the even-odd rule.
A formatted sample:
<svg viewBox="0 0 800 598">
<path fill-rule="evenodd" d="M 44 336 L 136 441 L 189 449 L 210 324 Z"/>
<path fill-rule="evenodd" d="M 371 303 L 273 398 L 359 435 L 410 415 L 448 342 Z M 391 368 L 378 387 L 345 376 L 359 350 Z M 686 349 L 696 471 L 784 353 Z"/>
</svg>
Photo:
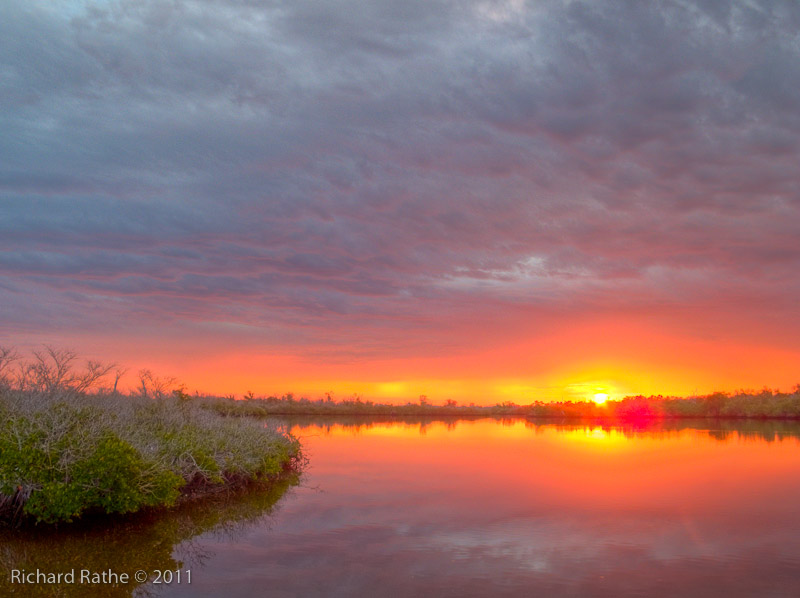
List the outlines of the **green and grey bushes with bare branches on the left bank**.
<svg viewBox="0 0 800 598">
<path fill-rule="evenodd" d="M 16 363 L 15 363 L 16 362 Z M 89 392 L 112 368 L 0 349 L 0 519 L 130 513 L 296 468 L 297 440 L 170 394 Z M 16 368 L 12 369 L 11 364 Z"/>
</svg>

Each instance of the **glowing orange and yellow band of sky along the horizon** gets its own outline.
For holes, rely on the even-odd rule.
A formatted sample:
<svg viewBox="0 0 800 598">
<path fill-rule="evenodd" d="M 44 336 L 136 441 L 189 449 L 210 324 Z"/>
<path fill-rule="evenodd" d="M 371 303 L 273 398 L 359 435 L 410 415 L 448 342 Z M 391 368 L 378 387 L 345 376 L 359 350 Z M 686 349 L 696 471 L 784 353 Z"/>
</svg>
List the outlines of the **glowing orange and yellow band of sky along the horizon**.
<svg viewBox="0 0 800 598">
<path fill-rule="evenodd" d="M 608 332 L 614 331 L 610 336 Z M 597 338 L 604 338 L 598 348 Z M 343 357 L 303 354 L 274 347 L 231 348 L 174 341 L 158 347 L 140 339 L 122 343 L 84 337 L 75 348 L 86 358 L 128 368 L 121 389 L 136 387 L 137 372 L 175 377 L 193 393 L 241 397 L 283 395 L 334 399 L 354 395 L 387 403 L 447 399 L 459 405 L 499 402 L 587 401 L 595 395 L 687 396 L 715 391 L 789 390 L 800 382 L 800 352 L 741 340 L 705 339 L 642 322 L 580 322 L 546 336 L 518 342 L 476 344 L 468 349 L 420 355 Z M 479 348 L 474 348 L 479 347 Z M 25 349 L 20 346 L 20 349 Z M 35 345 L 33 346 L 35 348 Z"/>
</svg>

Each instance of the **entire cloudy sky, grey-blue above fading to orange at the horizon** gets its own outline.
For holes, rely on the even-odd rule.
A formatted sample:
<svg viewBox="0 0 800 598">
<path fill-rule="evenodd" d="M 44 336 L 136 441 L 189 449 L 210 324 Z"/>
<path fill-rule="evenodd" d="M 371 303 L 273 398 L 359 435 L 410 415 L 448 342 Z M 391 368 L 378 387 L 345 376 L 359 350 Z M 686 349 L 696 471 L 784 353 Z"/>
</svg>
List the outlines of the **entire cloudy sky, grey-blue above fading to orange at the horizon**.
<svg viewBox="0 0 800 598">
<path fill-rule="evenodd" d="M 0 344 L 189 389 L 800 382 L 795 2 L 0 0 Z"/>
</svg>

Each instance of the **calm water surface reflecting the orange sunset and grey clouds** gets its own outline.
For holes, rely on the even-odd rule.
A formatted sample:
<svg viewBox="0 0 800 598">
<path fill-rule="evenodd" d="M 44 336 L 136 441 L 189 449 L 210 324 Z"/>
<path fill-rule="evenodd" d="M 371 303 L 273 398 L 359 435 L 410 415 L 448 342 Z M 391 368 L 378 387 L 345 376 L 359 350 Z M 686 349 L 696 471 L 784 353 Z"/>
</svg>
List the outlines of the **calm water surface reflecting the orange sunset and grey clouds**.
<svg viewBox="0 0 800 598">
<path fill-rule="evenodd" d="M 0 593 L 800 595 L 796 425 L 286 425 L 311 460 L 299 485 L 111 529 L 0 536 L 6 571 L 182 568 L 191 585 L 2 580 Z"/>
</svg>

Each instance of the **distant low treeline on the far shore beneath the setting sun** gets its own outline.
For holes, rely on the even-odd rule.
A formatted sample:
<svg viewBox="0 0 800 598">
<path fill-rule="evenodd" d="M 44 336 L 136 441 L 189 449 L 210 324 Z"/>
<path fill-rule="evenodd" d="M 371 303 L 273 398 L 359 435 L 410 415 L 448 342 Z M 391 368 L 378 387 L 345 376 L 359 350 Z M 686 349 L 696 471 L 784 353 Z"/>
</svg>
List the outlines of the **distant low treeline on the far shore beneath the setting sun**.
<svg viewBox="0 0 800 598">
<path fill-rule="evenodd" d="M 716 392 L 693 397 L 634 396 L 609 400 L 603 404 L 593 401 L 558 401 L 516 404 L 509 401 L 495 405 L 459 405 L 448 400 L 434 405 L 426 397 L 418 402 L 401 405 L 365 401 L 360 397 L 345 400 L 311 400 L 282 397 L 255 397 L 248 393 L 243 399 L 233 396 L 197 396 L 201 406 L 224 415 L 375 415 L 375 416 L 492 416 L 575 419 L 658 419 L 658 418 L 760 418 L 800 419 L 800 385 L 792 392 L 764 389 L 758 392 Z"/>
</svg>

